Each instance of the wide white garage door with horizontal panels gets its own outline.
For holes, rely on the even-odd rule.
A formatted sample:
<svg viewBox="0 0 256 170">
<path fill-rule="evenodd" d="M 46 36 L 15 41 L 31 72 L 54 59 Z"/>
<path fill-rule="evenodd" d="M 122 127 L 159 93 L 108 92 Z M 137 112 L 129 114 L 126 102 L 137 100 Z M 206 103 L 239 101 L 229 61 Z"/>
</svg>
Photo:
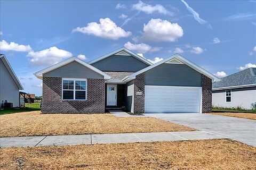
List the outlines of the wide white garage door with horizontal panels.
<svg viewBox="0 0 256 170">
<path fill-rule="evenodd" d="M 201 87 L 145 86 L 146 113 L 200 113 Z"/>
</svg>

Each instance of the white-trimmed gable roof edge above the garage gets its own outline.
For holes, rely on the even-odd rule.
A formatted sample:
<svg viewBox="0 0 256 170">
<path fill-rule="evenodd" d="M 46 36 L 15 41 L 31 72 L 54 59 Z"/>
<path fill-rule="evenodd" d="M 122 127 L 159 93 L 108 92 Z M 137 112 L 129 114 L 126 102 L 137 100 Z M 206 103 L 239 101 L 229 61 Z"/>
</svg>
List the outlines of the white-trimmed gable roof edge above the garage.
<svg viewBox="0 0 256 170">
<path fill-rule="evenodd" d="M 191 67 L 192 69 L 196 70 L 197 72 L 204 74 L 206 77 L 209 77 L 213 81 L 219 81 L 219 78 L 215 77 L 215 75 L 211 74 L 210 72 L 204 70 L 202 67 L 199 67 L 198 65 L 188 61 L 186 58 L 182 57 L 180 54 L 174 54 L 169 58 L 166 58 L 165 60 L 162 60 L 158 63 L 155 63 L 153 65 L 150 65 L 146 67 L 145 69 L 142 69 L 138 72 L 135 72 L 131 74 L 129 77 L 126 77 L 123 79 L 123 81 L 128 82 L 132 79 L 135 79 L 135 77 L 143 72 L 146 72 L 150 69 L 153 69 L 154 67 L 161 65 L 163 63 L 173 63 L 173 64 L 186 64 L 187 66 Z"/>
</svg>

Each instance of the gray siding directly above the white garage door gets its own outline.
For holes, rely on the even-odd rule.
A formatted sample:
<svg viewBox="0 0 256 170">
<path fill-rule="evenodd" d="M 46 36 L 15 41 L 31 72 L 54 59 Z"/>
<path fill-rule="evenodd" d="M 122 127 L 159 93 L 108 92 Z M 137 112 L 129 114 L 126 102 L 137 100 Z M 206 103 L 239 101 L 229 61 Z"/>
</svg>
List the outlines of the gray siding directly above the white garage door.
<svg viewBox="0 0 256 170">
<path fill-rule="evenodd" d="M 185 64 L 161 64 L 145 72 L 145 85 L 201 87 L 201 73 Z"/>
</svg>

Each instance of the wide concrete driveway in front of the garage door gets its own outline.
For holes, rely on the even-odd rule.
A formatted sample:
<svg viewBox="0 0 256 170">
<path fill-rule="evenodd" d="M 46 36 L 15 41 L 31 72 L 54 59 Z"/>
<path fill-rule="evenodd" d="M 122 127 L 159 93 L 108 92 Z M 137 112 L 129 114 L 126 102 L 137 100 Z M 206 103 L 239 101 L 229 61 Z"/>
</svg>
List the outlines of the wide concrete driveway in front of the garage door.
<svg viewBox="0 0 256 170">
<path fill-rule="evenodd" d="M 145 115 L 219 134 L 256 147 L 256 121 L 254 120 L 195 113 L 150 113 Z"/>
</svg>

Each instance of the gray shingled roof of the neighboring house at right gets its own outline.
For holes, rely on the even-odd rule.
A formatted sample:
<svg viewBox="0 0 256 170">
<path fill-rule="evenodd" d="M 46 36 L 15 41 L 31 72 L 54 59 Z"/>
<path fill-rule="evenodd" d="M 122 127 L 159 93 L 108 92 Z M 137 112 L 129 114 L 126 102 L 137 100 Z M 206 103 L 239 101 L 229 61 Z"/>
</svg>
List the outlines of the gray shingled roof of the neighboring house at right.
<svg viewBox="0 0 256 170">
<path fill-rule="evenodd" d="M 213 89 L 238 88 L 256 86 L 256 68 L 249 68 L 221 78 L 212 83 Z"/>
</svg>

